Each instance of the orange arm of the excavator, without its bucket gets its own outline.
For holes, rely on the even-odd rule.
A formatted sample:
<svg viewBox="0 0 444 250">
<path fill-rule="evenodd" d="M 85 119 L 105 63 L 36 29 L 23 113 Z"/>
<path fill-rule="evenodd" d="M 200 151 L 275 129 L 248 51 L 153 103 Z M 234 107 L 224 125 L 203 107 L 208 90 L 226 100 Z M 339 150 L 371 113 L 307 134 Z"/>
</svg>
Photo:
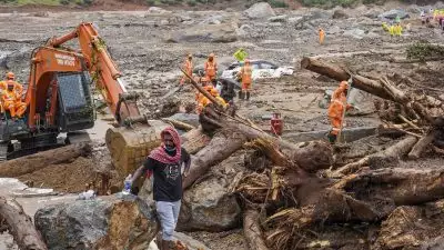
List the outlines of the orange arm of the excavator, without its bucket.
<svg viewBox="0 0 444 250">
<path fill-rule="evenodd" d="M 78 39 L 85 68 L 95 81 L 97 88 L 101 91 L 115 120 L 120 124 L 143 121 L 135 102 L 138 94 L 127 91 L 121 73 L 92 23 L 83 22 L 72 32 L 50 39 L 47 46 L 59 48 L 73 39 Z"/>
</svg>

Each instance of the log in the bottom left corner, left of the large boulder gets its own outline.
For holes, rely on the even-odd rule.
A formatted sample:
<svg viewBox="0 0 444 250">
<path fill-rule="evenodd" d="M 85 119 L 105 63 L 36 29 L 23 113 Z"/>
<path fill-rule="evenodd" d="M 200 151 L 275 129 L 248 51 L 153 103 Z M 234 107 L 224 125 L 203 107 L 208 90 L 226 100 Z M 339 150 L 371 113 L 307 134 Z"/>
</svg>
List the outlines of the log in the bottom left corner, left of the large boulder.
<svg viewBox="0 0 444 250">
<path fill-rule="evenodd" d="M 0 220 L 6 221 L 9 233 L 22 250 L 47 250 L 41 234 L 23 208 L 14 200 L 0 197 Z"/>
</svg>

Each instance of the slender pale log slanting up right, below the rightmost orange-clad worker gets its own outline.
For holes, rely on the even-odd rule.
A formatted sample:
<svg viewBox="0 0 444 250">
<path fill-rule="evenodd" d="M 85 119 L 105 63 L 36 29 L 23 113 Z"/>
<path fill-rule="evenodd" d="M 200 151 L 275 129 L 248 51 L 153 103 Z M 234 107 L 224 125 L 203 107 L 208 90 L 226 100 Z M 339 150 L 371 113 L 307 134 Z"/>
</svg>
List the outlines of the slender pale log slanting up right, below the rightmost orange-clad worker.
<svg viewBox="0 0 444 250">
<path fill-rule="evenodd" d="M 417 141 L 416 137 L 407 136 L 403 140 L 395 143 L 394 146 L 389 147 L 386 150 L 382 152 L 372 153 L 367 157 L 362 158 L 356 162 L 345 164 L 334 170 L 329 176 L 331 178 L 341 178 L 345 174 L 356 172 L 360 168 L 369 164 L 372 164 L 373 168 L 376 168 L 381 164 L 391 164 L 391 162 L 393 161 L 397 162 L 397 159 L 407 153 L 412 149 L 412 147 L 416 143 L 416 141 Z"/>
</svg>

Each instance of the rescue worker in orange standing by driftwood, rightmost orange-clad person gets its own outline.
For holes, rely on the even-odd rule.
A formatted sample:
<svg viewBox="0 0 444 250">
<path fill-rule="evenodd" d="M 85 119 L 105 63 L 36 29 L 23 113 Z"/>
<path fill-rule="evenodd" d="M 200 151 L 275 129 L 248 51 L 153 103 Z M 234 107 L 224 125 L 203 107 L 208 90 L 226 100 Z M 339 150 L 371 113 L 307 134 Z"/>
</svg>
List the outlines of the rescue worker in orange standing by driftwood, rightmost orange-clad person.
<svg viewBox="0 0 444 250">
<path fill-rule="evenodd" d="M 353 108 L 353 106 L 346 103 L 347 91 L 349 82 L 341 81 L 340 87 L 333 92 L 332 96 L 332 101 L 329 107 L 329 119 L 332 124 L 332 130 L 327 136 L 331 143 L 336 141 L 339 132 L 341 131 L 342 127 L 344 127 L 342 119 L 344 118 L 343 114 L 345 110 Z"/>
</svg>

